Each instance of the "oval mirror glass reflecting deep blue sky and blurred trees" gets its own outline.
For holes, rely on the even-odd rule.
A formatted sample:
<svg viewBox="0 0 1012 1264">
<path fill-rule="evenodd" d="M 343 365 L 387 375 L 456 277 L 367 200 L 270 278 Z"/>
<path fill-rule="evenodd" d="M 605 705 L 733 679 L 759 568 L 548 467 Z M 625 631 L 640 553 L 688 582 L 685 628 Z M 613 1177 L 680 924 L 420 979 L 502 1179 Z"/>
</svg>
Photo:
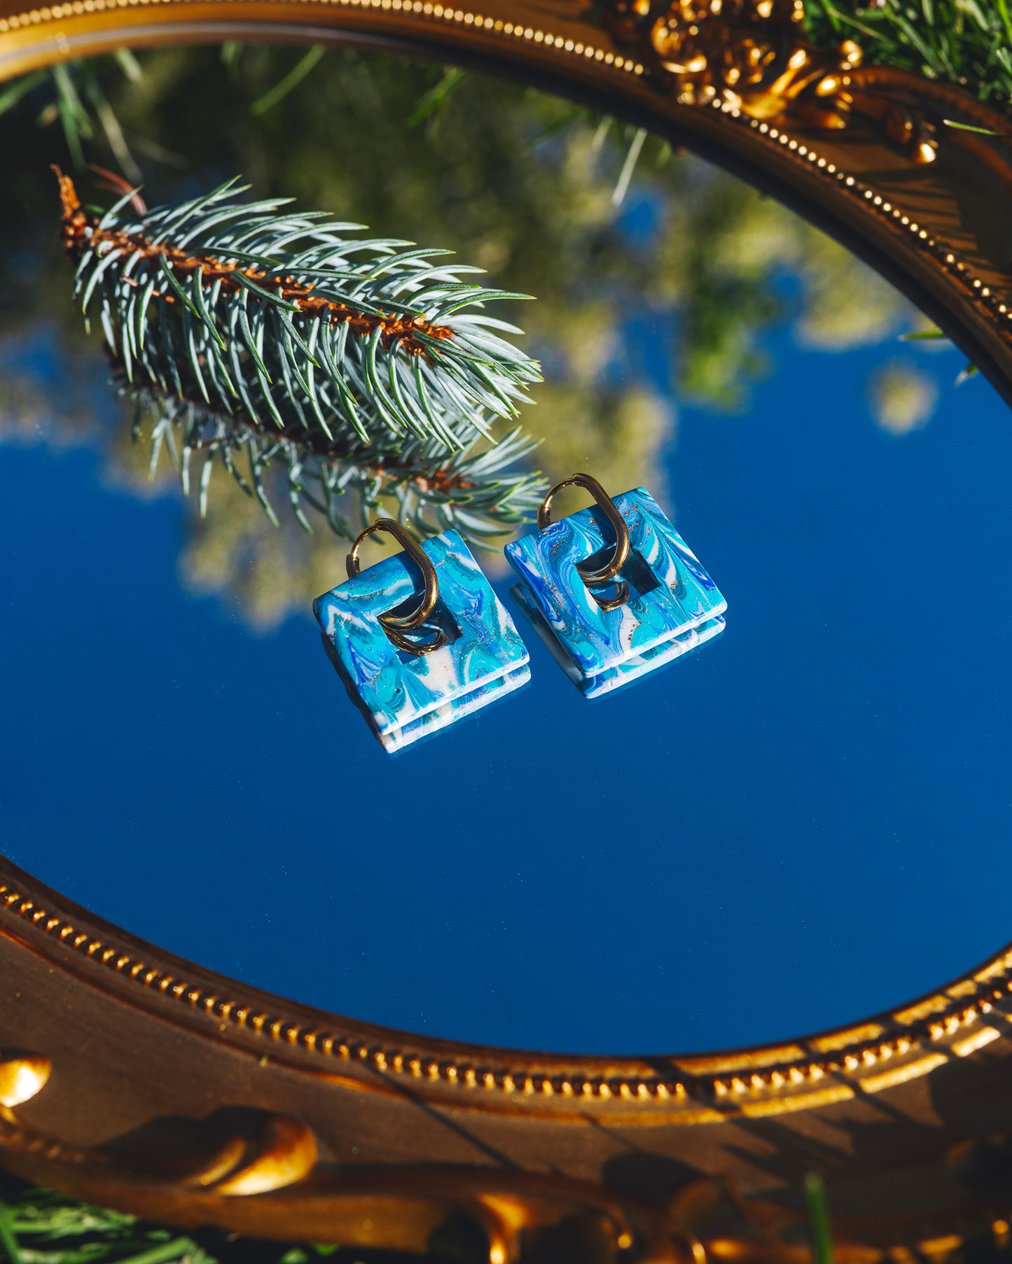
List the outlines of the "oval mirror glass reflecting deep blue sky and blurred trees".
<svg viewBox="0 0 1012 1264">
<path fill-rule="evenodd" d="M 536 461 L 648 487 L 727 631 L 588 703 L 500 547 L 531 684 L 387 756 L 310 608 L 347 544 L 281 483 L 275 527 L 220 469 L 205 518 L 167 450 L 149 480 L 71 303 L 42 75 L 0 118 L 6 854 L 256 986 L 526 1048 L 786 1038 L 1007 938 L 1012 432 L 906 300 L 702 161 L 476 75 L 240 46 L 72 75 L 85 158 L 149 204 L 243 172 L 534 295 Z"/>
</svg>

